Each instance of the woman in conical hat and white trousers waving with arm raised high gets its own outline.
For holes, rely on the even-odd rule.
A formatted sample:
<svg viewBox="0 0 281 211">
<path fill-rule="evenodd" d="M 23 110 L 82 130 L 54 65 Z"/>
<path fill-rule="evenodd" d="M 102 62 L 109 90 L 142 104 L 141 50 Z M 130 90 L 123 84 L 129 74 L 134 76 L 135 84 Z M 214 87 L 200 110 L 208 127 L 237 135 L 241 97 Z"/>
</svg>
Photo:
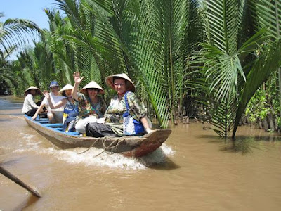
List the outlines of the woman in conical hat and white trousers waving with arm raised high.
<svg viewBox="0 0 281 211">
<path fill-rule="evenodd" d="M 74 88 L 72 98 L 78 102 L 79 115 L 77 116 L 75 129 L 81 134 L 86 133 L 86 125 L 89 122 L 99 122 L 103 119 L 103 114 L 107 108 L 105 101 L 98 94 L 105 94 L 96 82 L 91 81 L 78 92 L 78 87 L 84 77 L 80 77 L 80 72 L 74 72 Z"/>
</svg>

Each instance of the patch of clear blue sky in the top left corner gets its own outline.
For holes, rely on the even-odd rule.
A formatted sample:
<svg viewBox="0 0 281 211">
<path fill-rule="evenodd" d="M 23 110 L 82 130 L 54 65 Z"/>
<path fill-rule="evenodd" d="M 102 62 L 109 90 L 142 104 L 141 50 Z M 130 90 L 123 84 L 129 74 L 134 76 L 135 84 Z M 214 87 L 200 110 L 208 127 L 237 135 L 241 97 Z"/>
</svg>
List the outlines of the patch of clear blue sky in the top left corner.
<svg viewBox="0 0 281 211">
<path fill-rule="evenodd" d="M 55 0 L 0 0 L 0 12 L 4 13 L 4 22 L 8 18 L 21 18 L 32 20 L 41 29 L 49 29 L 48 17 L 44 8 L 52 8 Z"/>
</svg>

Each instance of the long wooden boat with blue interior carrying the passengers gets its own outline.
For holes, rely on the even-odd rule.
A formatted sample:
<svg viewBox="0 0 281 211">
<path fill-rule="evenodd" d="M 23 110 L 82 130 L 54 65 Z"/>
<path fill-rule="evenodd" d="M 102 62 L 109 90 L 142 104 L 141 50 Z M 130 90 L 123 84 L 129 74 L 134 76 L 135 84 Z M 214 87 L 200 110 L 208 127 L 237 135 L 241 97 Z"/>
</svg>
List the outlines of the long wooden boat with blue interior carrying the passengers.
<svg viewBox="0 0 281 211">
<path fill-rule="evenodd" d="M 145 134 L 144 136 L 93 138 L 83 136 L 78 132 L 63 132 L 63 124 L 50 124 L 47 118 L 37 117 L 33 121 L 31 117 L 24 116 L 25 121 L 30 127 L 36 129 L 55 146 L 60 148 L 104 148 L 107 152 L 122 153 L 122 155 L 127 157 L 141 157 L 155 151 L 171 134 L 171 129 L 155 129 L 152 133 Z"/>
</svg>

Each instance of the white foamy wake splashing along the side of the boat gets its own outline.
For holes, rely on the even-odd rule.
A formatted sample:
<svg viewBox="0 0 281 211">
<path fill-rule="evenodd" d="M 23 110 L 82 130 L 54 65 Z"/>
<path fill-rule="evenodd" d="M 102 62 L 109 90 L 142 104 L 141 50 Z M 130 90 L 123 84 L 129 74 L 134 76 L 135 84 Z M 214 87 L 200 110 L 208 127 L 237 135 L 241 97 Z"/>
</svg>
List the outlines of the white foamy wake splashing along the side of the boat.
<svg viewBox="0 0 281 211">
<path fill-rule="evenodd" d="M 73 149 L 58 149 L 58 148 L 42 148 L 38 144 L 28 144 L 28 148 L 17 149 L 14 153 L 24 153 L 32 151 L 37 154 L 52 155 L 52 158 L 63 160 L 64 162 L 74 165 L 85 166 L 100 166 L 100 167 L 113 167 L 128 170 L 145 169 L 152 165 L 164 163 L 169 155 L 173 155 L 174 151 L 165 143 L 162 144 L 153 153 L 145 155 L 141 158 L 126 158 L 118 153 L 106 153 L 103 149 L 90 148 L 73 148 Z M 81 153 L 84 152 L 85 153 Z M 81 154 L 80 154 L 81 153 Z"/>
</svg>

